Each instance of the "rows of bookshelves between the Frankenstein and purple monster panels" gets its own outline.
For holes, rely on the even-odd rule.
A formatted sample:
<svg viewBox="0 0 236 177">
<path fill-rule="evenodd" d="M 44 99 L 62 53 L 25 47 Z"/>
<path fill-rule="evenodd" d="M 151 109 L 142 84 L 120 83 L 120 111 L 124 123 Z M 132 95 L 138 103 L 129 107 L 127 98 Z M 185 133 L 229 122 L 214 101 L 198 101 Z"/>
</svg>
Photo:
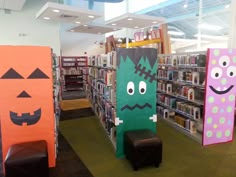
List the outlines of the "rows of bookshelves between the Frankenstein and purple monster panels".
<svg viewBox="0 0 236 177">
<path fill-rule="evenodd" d="M 206 52 L 158 55 L 157 114 L 202 142 Z"/>
</svg>

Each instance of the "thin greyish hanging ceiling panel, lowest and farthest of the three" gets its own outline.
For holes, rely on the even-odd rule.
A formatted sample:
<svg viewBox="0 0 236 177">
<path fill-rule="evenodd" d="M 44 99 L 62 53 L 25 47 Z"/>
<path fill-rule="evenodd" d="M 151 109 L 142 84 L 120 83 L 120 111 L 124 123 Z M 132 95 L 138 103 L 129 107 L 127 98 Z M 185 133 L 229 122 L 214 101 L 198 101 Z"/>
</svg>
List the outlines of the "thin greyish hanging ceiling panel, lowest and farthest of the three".
<svg viewBox="0 0 236 177">
<path fill-rule="evenodd" d="M 106 34 L 117 30 L 119 29 L 106 26 L 95 26 L 90 24 L 88 26 L 79 25 L 74 28 L 71 28 L 68 31 L 78 32 L 78 33 L 90 33 L 90 34 Z"/>
</svg>

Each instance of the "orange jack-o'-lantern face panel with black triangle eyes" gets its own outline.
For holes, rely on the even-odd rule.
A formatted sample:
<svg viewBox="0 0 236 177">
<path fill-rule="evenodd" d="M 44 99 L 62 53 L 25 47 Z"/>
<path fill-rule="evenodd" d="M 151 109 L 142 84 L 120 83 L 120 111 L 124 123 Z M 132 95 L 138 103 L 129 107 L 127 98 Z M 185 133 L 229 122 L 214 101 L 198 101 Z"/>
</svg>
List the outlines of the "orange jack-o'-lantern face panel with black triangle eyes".
<svg viewBox="0 0 236 177">
<path fill-rule="evenodd" d="M 12 144 L 46 140 L 55 166 L 51 49 L 0 46 L 0 59 L 3 160 Z"/>
</svg>

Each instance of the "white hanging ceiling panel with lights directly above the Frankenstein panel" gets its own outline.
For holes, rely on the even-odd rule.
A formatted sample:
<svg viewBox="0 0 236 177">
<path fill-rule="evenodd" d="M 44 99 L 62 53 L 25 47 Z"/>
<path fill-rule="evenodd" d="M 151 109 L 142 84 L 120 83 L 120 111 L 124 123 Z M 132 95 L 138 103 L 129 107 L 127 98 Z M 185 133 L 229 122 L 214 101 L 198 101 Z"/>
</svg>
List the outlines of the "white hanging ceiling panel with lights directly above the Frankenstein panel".
<svg viewBox="0 0 236 177">
<path fill-rule="evenodd" d="M 139 14 L 124 14 L 119 17 L 106 21 L 107 25 L 124 28 L 145 28 L 153 25 L 164 23 L 165 19 L 162 17 L 154 17 Z"/>
</svg>

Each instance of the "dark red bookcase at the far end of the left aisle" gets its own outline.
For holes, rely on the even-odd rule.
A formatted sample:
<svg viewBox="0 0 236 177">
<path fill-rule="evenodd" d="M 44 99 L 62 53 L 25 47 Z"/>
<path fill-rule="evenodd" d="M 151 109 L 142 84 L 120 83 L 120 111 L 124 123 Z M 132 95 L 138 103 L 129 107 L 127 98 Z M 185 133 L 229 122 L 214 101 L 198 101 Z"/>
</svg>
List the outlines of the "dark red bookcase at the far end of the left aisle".
<svg viewBox="0 0 236 177">
<path fill-rule="evenodd" d="M 83 90 L 83 69 L 87 56 L 61 57 L 61 83 L 64 91 Z"/>
</svg>

